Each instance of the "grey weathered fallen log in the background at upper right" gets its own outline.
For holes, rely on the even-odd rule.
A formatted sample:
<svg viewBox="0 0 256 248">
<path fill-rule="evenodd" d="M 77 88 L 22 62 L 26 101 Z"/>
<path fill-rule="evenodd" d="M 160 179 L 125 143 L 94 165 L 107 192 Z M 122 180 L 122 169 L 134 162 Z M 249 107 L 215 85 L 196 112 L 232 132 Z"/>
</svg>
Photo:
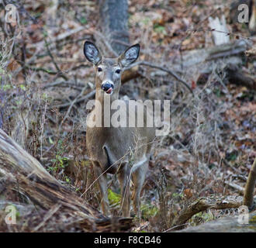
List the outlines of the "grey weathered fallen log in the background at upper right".
<svg viewBox="0 0 256 248">
<path fill-rule="evenodd" d="M 183 55 L 183 58 L 174 60 L 173 69 L 183 68 L 185 78 L 196 83 L 206 83 L 209 74 L 222 71 L 231 84 L 244 85 L 255 89 L 255 77 L 242 71 L 242 55 L 250 50 L 250 40 L 235 40 L 219 46 L 201 50 L 192 50 Z M 203 79 L 205 78 L 205 79 Z"/>
</svg>

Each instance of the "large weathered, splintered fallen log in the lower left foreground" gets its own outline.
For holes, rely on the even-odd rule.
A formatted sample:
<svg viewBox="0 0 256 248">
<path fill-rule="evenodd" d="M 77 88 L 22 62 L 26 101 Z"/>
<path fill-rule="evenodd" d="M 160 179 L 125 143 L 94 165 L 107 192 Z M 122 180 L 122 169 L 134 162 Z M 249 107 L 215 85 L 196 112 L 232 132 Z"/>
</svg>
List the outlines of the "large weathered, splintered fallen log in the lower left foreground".
<svg viewBox="0 0 256 248">
<path fill-rule="evenodd" d="M 33 210 L 25 212 L 17 225 L 7 225 L 0 214 L 0 232 L 117 232 L 133 226 L 131 218 L 109 218 L 88 205 L 0 129 L 1 202 L 10 202 L 14 192 L 16 198 L 22 198 L 20 205 L 30 210 L 34 206 Z"/>
</svg>

